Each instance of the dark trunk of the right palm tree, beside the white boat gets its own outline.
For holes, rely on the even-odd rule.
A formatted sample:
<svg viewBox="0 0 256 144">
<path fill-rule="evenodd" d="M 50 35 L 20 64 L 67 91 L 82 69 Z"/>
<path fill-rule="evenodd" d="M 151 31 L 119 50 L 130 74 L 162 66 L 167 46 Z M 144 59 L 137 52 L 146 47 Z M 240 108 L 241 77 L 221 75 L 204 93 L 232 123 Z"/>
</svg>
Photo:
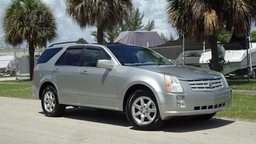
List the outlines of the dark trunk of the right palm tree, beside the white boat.
<svg viewBox="0 0 256 144">
<path fill-rule="evenodd" d="M 219 64 L 219 52 L 218 52 L 218 36 L 211 35 L 209 37 L 209 43 L 211 45 L 211 64 L 212 70 L 220 72 L 220 64 Z"/>
</svg>

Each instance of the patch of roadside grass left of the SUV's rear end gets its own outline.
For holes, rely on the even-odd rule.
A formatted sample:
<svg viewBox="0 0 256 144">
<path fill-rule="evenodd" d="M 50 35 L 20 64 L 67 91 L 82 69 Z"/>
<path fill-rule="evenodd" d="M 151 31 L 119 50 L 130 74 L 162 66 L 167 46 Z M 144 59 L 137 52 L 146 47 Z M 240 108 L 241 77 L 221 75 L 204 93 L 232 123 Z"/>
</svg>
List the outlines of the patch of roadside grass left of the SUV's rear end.
<svg viewBox="0 0 256 144">
<path fill-rule="evenodd" d="M 26 85 L 0 85 L 0 96 L 35 99 L 32 96 L 31 86 Z"/>
</svg>

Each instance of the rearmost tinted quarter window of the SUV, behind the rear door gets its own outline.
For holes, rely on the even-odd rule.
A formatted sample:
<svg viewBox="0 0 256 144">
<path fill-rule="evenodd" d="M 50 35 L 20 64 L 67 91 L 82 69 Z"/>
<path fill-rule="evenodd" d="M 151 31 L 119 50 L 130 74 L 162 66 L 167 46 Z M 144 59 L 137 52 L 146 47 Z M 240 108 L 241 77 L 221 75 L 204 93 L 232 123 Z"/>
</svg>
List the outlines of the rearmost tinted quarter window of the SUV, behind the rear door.
<svg viewBox="0 0 256 144">
<path fill-rule="evenodd" d="M 46 49 L 37 60 L 37 64 L 47 63 L 55 54 L 60 52 L 63 48 Z"/>
</svg>

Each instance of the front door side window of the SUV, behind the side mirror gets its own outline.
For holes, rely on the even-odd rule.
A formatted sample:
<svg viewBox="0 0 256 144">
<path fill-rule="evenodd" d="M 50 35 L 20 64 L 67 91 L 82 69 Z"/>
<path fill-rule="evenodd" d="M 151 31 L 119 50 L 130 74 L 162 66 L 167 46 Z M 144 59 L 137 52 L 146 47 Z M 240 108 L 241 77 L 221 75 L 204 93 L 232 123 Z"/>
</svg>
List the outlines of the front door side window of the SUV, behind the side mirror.
<svg viewBox="0 0 256 144">
<path fill-rule="evenodd" d="M 86 49 L 84 66 L 85 67 L 96 67 L 99 59 L 109 59 L 108 56 L 101 50 L 97 49 Z"/>
</svg>

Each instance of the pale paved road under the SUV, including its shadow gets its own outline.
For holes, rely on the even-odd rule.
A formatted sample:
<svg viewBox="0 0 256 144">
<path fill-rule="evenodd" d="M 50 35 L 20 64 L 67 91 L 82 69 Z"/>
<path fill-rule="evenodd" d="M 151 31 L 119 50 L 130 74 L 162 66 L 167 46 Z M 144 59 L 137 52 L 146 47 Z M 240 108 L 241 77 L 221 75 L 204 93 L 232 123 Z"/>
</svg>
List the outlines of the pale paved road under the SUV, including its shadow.
<svg viewBox="0 0 256 144">
<path fill-rule="evenodd" d="M 172 119 L 137 131 L 121 112 L 68 108 L 46 117 L 40 100 L 0 97 L 0 143 L 255 143 L 256 122 Z"/>
</svg>

